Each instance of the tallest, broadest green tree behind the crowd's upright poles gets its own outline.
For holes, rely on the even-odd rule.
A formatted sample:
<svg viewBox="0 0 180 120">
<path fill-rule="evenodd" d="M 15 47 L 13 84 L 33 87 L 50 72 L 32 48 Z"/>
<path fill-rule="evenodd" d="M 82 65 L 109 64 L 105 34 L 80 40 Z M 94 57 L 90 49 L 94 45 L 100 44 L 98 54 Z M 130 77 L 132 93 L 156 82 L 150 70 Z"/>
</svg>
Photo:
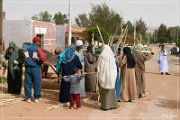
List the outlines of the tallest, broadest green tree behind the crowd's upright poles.
<svg viewBox="0 0 180 120">
<path fill-rule="evenodd" d="M 114 10 L 110 9 L 106 3 L 92 5 L 89 13 L 90 27 L 103 27 L 108 33 L 114 34 L 117 26 L 120 27 L 122 18 Z"/>
</svg>

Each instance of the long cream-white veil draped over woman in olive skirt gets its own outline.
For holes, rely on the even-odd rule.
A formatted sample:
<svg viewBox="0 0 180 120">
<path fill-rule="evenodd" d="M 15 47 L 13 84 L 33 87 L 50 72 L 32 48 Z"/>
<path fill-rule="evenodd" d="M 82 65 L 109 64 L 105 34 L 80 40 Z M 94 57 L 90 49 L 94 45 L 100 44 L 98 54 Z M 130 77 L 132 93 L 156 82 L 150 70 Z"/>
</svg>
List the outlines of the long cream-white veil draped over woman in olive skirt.
<svg viewBox="0 0 180 120">
<path fill-rule="evenodd" d="M 97 62 L 98 80 L 102 88 L 114 89 L 117 68 L 114 54 L 108 45 L 104 45 L 103 51 Z"/>
</svg>

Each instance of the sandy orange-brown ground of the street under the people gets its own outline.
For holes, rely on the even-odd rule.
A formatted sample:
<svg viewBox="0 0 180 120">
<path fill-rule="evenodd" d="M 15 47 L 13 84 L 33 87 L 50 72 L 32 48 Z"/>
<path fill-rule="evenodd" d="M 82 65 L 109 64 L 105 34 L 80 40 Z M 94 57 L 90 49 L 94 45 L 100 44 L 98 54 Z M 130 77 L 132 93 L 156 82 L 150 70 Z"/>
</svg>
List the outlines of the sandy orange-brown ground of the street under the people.
<svg viewBox="0 0 180 120">
<path fill-rule="evenodd" d="M 167 47 L 169 50 L 171 46 Z M 120 102 L 120 108 L 109 111 L 100 110 L 100 106 L 89 101 L 82 100 L 82 108 L 79 110 L 66 109 L 62 106 L 44 111 L 57 105 L 59 83 L 56 79 L 43 79 L 42 101 L 40 103 L 26 103 L 24 101 L 1 107 L 0 119 L 2 120 L 178 120 L 180 119 L 180 64 L 176 56 L 169 55 L 168 75 L 159 74 L 157 63 L 157 46 L 152 46 L 154 57 L 146 62 L 146 97 L 137 99 L 132 103 Z M 49 74 L 49 75 L 52 75 Z M 54 76 L 54 75 L 53 75 Z M 1 93 L 6 92 L 7 85 L 1 84 Z M 23 93 L 23 91 L 22 91 Z M 178 96 L 179 95 L 179 96 Z"/>
</svg>

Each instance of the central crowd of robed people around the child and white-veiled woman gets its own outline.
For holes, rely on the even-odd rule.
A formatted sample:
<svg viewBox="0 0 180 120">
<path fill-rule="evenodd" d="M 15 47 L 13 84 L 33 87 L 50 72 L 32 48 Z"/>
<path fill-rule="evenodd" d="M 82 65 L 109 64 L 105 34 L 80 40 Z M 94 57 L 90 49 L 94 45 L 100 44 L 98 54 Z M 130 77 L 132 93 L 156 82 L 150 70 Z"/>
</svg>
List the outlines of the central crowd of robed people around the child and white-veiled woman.
<svg viewBox="0 0 180 120">
<path fill-rule="evenodd" d="M 80 98 L 84 98 L 86 92 L 98 92 L 101 109 L 108 110 L 118 108 L 117 102 L 131 102 L 145 95 L 145 61 L 152 55 L 141 52 L 143 45 L 136 45 L 133 54 L 129 47 L 124 47 L 119 54 L 113 49 L 116 45 L 103 45 L 98 57 L 91 44 L 87 53 L 83 53 L 82 45 L 82 40 L 77 40 L 59 55 L 56 70 L 64 76 L 59 102 L 66 106 L 70 102 L 72 108 L 76 100 L 75 108 L 80 108 Z M 84 75 L 84 71 L 89 74 Z"/>
</svg>

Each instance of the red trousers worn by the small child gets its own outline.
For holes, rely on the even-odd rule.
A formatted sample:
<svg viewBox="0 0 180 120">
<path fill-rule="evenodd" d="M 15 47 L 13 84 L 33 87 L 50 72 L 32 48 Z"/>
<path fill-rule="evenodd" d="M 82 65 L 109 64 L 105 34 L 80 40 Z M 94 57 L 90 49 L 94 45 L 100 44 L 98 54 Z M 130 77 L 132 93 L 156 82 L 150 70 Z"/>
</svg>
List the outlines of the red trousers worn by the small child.
<svg viewBox="0 0 180 120">
<path fill-rule="evenodd" d="M 80 94 L 70 94 L 70 107 L 74 107 L 74 101 L 76 100 L 76 107 L 81 107 Z"/>
</svg>

